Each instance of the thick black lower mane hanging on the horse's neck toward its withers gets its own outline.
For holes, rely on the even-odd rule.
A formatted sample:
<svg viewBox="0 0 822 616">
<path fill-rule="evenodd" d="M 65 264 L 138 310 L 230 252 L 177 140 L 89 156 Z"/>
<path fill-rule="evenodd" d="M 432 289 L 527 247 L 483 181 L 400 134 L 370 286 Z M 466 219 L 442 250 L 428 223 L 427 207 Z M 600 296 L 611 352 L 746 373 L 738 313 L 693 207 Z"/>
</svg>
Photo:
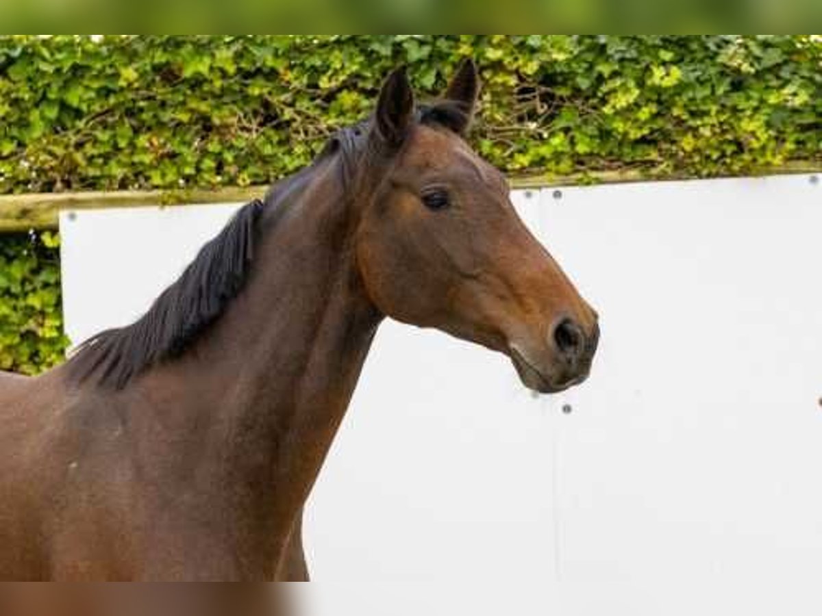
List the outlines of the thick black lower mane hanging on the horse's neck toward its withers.
<svg viewBox="0 0 822 616">
<path fill-rule="evenodd" d="M 180 355 L 237 297 L 247 279 L 262 203 L 245 205 L 136 323 L 98 333 L 70 364 L 82 381 L 123 388 L 143 370 Z"/>
</svg>

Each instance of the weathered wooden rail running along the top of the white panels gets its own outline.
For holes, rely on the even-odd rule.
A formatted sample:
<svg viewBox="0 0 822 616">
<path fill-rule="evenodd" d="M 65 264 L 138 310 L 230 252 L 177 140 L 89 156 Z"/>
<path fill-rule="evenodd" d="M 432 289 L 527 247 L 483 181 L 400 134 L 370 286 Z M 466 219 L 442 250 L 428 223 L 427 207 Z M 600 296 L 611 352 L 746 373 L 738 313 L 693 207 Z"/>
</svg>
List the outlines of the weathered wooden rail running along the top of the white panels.
<svg viewBox="0 0 822 616">
<path fill-rule="evenodd" d="M 780 168 L 763 169 L 748 175 L 822 172 L 818 161 L 797 161 Z M 640 171 L 621 170 L 590 172 L 572 176 L 529 176 L 511 178 L 511 186 L 520 189 L 546 186 L 571 186 L 582 183 L 639 182 L 653 179 Z M 666 177 L 665 179 L 684 179 Z M 46 193 L 39 195 L 0 196 L 0 233 L 51 229 L 58 226 L 58 214 L 64 209 L 131 208 L 147 205 L 194 205 L 242 203 L 261 197 L 266 186 L 228 187 L 214 191 L 113 191 Z"/>
</svg>

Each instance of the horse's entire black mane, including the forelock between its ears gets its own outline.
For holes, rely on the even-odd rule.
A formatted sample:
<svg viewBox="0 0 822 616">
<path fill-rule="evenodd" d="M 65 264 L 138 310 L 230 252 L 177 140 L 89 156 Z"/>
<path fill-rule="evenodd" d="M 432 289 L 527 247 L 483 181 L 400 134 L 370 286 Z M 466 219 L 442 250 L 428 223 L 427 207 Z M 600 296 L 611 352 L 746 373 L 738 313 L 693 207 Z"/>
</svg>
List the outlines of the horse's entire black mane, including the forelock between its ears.
<svg viewBox="0 0 822 616">
<path fill-rule="evenodd" d="M 418 108 L 417 122 L 456 130 L 467 124 L 468 114 L 459 104 L 445 101 Z M 379 155 L 369 147 L 371 126 L 367 120 L 337 131 L 312 166 L 271 187 L 266 204 L 282 207 L 280 201 L 288 200 L 289 192 L 302 186 L 318 163 L 331 158 L 339 160 L 340 181 L 349 193 L 358 169 L 367 165 L 368 157 Z M 94 376 L 99 385 L 122 389 L 151 366 L 186 351 L 242 291 L 263 207 L 255 200 L 240 209 L 141 319 L 83 342 L 70 361 L 71 378 L 83 382 Z"/>
</svg>

